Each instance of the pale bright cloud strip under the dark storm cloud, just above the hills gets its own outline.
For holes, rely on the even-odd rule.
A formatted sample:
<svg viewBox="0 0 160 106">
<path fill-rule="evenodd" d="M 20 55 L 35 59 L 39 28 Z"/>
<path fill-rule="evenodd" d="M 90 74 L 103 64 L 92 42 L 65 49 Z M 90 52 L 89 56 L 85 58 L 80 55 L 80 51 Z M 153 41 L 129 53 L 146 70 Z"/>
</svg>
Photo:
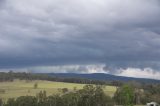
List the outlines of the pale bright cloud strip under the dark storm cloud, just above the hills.
<svg viewBox="0 0 160 106">
<path fill-rule="evenodd" d="M 29 68 L 10 69 L 18 72 L 29 72 L 29 73 L 105 73 L 113 74 L 116 76 L 126 76 L 135 78 L 149 78 L 159 79 L 160 72 L 151 68 L 117 68 L 117 69 L 106 69 L 104 64 L 92 64 L 92 65 L 61 65 L 61 66 L 36 66 Z M 1 71 L 9 71 L 1 70 Z"/>
</svg>

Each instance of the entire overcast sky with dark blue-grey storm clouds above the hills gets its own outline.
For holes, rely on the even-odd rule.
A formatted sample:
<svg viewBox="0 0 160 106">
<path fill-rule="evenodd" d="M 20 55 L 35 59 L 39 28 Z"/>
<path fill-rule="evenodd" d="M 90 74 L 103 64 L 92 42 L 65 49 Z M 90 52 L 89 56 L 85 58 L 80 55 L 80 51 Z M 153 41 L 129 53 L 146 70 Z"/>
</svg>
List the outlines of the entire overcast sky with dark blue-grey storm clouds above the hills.
<svg viewBox="0 0 160 106">
<path fill-rule="evenodd" d="M 160 79 L 159 0 L 0 0 L 0 70 Z"/>
</svg>

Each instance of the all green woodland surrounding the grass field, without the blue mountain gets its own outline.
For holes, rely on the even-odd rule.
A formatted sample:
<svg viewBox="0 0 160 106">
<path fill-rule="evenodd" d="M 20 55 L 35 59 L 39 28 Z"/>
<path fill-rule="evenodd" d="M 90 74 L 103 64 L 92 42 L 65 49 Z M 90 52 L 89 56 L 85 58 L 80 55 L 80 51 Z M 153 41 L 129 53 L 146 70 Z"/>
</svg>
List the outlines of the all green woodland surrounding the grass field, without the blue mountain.
<svg viewBox="0 0 160 106">
<path fill-rule="evenodd" d="M 155 101 L 160 104 L 160 84 L 140 83 L 135 81 L 98 81 L 88 79 L 58 78 L 30 73 L 0 73 L 0 81 L 20 80 L 49 80 L 87 84 L 81 90 L 72 92 L 67 89 L 62 94 L 47 96 L 41 91 L 36 96 L 21 96 L 10 98 L 7 102 L 0 99 L 0 106 L 113 106 L 115 104 L 133 106 Z M 103 85 L 117 86 L 113 97 L 107 96 Z"/>
</svg>

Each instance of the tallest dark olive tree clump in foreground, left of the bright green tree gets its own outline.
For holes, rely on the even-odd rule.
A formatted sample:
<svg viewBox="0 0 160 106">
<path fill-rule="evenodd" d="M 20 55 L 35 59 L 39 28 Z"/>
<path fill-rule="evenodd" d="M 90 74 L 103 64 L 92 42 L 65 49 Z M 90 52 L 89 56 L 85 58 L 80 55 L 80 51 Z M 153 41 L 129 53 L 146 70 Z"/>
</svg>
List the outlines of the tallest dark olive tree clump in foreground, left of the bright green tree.
<svg viewBox="0 0 160 106">
<path fill-rule="evenodd" d="M 101 85 L 86 85 L 79 91 L 79 106 L 112 106 L 113 102 L 106 96 Z"/>
</svg>

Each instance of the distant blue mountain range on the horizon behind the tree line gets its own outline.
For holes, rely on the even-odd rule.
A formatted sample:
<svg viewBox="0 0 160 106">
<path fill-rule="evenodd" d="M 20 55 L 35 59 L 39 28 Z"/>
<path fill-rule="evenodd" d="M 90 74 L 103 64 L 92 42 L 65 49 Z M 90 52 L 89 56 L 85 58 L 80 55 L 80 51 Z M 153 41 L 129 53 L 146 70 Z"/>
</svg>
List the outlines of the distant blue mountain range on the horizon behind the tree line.
<svg viewBox="0 0 160 106">
<path fill-rule="evenodd" d="M 133 77 L 123 77 L 115 76 L 111 74 L 104 73 L 93 73 L 93 74 L 76 74 L 76 73 L 48 73 L 49 76 L 63 77 L 63 78 L 85 78 L 92 80 L 103 80 L 103 81 L 138 81 L 138 82 L 148 82 L 148 83 L 160 83 L 160 80 L 145 79 L 145 78 L 133 78 Z"/>
</svg>

